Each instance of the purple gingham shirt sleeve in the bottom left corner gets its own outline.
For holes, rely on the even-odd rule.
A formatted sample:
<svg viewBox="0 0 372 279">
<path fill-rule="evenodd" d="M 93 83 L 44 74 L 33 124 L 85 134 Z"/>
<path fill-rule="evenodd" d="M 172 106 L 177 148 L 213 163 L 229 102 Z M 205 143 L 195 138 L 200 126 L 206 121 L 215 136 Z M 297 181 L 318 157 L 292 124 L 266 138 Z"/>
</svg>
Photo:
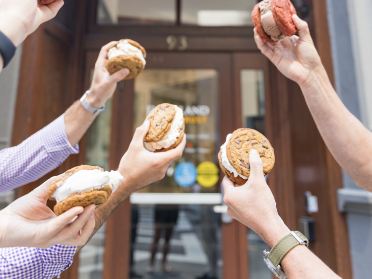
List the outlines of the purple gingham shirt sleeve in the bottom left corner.
<svg viewBox="0 0 372 279">
<path fill-rule="evenodd" d="M 0 248 L 0 278 L 60 278 L 61 273 L 71 266 L 75 252 L 76 246 L 59 244 L 48 249 Z"/>
</svg>

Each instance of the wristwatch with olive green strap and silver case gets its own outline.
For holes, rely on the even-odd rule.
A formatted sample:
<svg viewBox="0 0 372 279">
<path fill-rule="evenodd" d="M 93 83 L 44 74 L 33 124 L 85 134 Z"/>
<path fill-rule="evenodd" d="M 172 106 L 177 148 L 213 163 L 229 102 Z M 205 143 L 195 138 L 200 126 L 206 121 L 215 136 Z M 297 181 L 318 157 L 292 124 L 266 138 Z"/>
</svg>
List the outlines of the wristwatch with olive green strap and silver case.
<svg viewBox="0 0 372 279">
<path fill-rule="evenodd" d="M 280 263 L 289 251 L 297 245 L 309 247 L 309 240 L 301 232 L 291 231 L 291 233 L 280 239 L 270 252 L 268 250 L 263 251 L 263 261 L 277 278 L 287 279 Z"/>
</svg>

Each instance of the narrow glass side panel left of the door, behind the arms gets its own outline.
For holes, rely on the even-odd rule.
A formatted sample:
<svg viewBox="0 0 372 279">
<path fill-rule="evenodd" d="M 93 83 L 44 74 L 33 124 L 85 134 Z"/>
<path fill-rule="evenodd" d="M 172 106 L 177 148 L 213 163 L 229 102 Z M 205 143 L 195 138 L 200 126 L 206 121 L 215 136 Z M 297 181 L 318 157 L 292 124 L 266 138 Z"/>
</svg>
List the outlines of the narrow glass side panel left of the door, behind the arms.
<svg viewBox="0 0 372 279">
<path fill-rule="evenodd" d="M 109 170 L 112 100 L 88 130 L 86 164 Z M 105 252 L 105 224 L 79 253 L 79 279 L 101 279 Z"/>
</svg>

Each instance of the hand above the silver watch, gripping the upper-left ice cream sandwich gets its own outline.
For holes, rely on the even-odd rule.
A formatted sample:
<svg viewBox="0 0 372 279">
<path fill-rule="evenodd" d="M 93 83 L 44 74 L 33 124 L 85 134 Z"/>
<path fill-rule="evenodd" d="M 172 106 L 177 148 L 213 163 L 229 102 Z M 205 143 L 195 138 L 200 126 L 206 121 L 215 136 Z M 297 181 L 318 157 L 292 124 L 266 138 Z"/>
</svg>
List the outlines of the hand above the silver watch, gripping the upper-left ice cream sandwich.
<svg viewBox="0 0 372 279">
<path fill-rule="evenodd" d="M 87 101 L 95 108 L 102 108 L 106 101 L 113 96 L 117 83 L 129 74 L 129 70 L 126 68 L 112 75 L 106 70 L 107 54 L 115 43 L 117 42 L 111 42 L 102 47 L 94 67 L 93 81 Z"/>
</svg>

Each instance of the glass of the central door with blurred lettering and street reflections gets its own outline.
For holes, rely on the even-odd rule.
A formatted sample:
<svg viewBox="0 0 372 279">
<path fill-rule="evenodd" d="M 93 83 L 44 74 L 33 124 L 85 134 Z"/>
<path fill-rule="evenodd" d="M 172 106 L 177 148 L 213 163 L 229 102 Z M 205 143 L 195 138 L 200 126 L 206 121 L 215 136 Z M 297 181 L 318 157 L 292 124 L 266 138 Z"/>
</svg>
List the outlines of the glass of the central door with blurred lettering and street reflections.
<svg viewBox="0 0 372 279">
<path fill-rule="evenodd" d="M 179 185 L 175 176 L 183 163 L 217 165 L 218 72 L 216 70 L 152 70 L 135 79 L 134 128 L 160 103 L 181 107 L 185 117 L 186 149 L 169 167 L 164 179 L 141 193 L 218 193 L 194 177 Z M 134 132 L 134 131 L 133 131 Z M 218 173 L 215 174 L 218 176 Z M 132 205 L 130 278 L 221 279 L 220 216 L 212 205 Z M 207 274 L 207 277 L 205 276 Z"/>
</svg>

